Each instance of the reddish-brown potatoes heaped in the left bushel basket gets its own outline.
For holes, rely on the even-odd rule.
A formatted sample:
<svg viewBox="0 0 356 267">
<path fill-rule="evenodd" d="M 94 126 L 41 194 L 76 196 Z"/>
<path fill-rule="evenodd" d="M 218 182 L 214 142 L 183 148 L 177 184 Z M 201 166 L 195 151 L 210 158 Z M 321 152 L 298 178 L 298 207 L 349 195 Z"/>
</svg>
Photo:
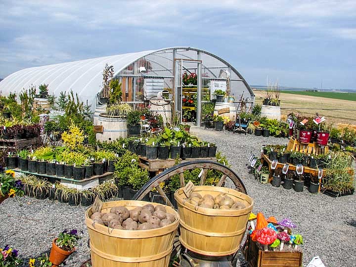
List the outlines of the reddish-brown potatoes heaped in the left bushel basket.
<svg viewBox="0 0 356 267">
<path fill-rule="evenodd" d="M 147 230 L 166 226 L 176 221 L 165 206 L 147 204 L 128 210 L 124 206 L 112 207 L 110 213 L 95 212 L 90 216 L 95 223 L 121 230 Z"/>
</svg>

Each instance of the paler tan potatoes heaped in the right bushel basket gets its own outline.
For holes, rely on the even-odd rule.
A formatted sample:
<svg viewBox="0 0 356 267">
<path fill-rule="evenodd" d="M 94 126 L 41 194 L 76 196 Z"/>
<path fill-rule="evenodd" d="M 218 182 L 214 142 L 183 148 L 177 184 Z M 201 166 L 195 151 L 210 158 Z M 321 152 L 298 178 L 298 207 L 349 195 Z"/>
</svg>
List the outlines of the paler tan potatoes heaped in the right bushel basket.
<svg viewBox="0 0 356 267">
<path fill-rule="evenodd" d="M 245 204 L 234 201 L 225 193 L 220 193 L 214 198 L 210 194 L 202 196 L 198 192 L 192 192 L 188 200 L 190 204 L 207 209 L 241 210 L 246 207 Z"/>
</svg>

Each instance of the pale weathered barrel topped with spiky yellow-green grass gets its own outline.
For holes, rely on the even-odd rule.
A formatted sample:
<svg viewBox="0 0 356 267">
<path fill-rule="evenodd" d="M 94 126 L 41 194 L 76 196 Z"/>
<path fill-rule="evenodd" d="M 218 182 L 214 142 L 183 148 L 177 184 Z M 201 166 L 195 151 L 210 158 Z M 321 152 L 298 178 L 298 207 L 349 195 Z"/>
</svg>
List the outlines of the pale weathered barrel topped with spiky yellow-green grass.
<svg viewBox="0 0 356 267">
<path fill-rule="evenodd" d="M 97 133 L 96 140 L 101 142 L 114 141 L 120 137 L 128 137 L 126 119 L 117 116 L 107 116 L 104 113 L 101 113 L 99 114 L 98 125 L 103 126 L 103 133 Z"/>
</svg>

